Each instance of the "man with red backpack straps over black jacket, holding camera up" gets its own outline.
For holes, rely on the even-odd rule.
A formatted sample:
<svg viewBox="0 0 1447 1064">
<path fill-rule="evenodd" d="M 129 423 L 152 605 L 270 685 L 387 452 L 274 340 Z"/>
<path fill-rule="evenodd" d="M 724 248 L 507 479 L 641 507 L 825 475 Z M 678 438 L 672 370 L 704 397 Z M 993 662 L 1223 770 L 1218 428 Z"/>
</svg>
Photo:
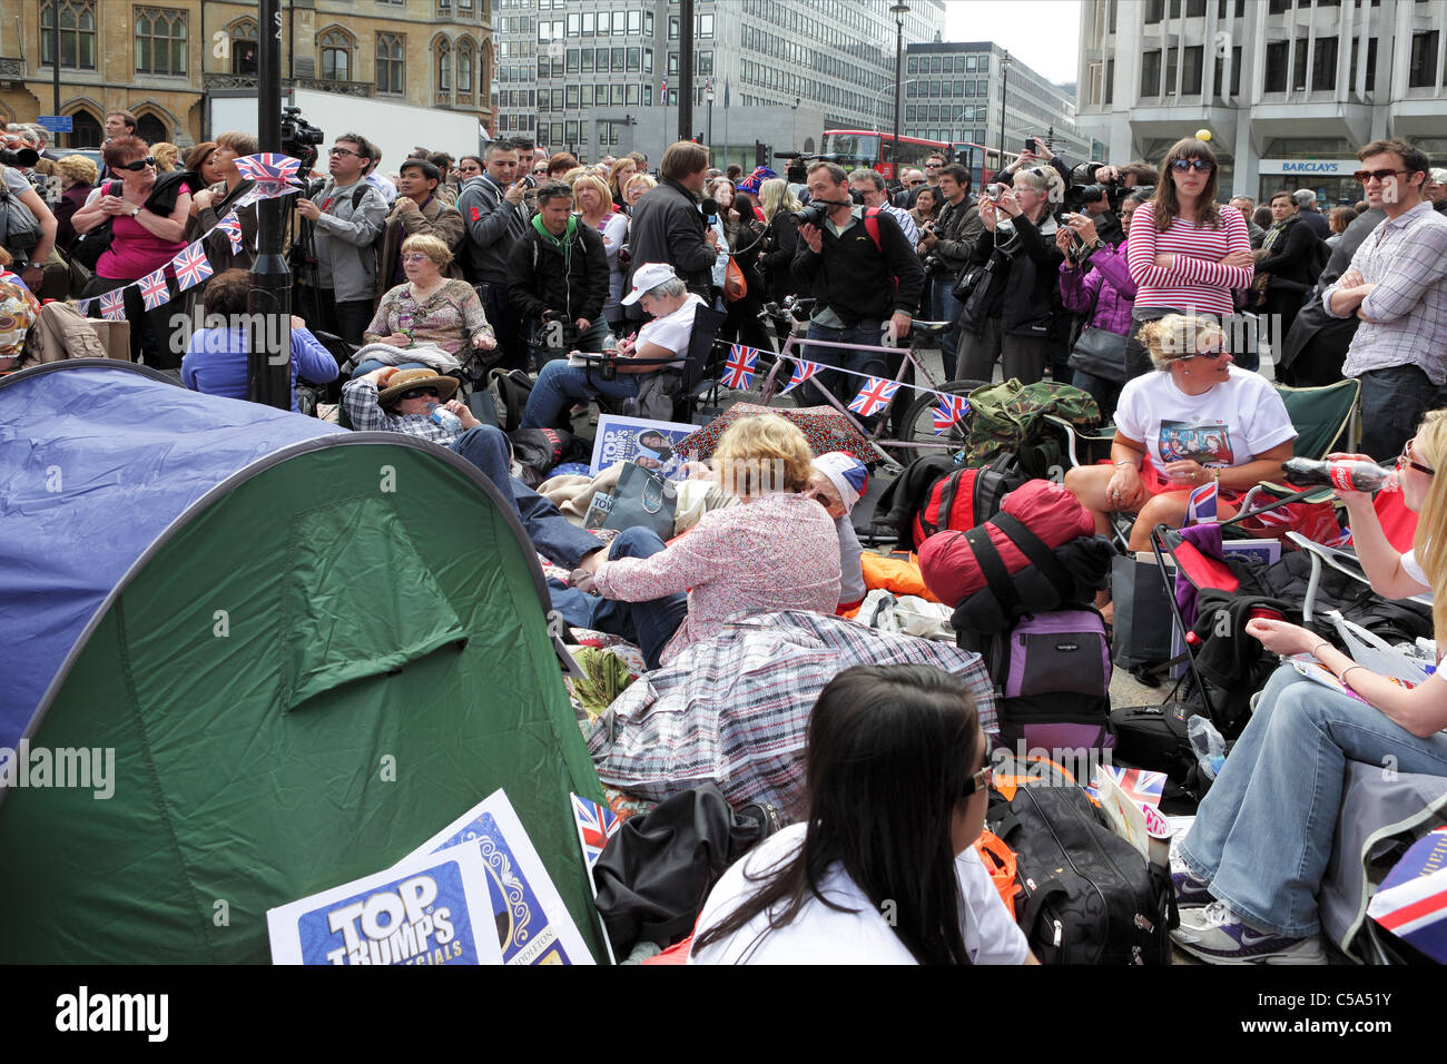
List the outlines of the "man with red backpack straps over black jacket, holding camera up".
<svg viewBox="0 0 1447 1064">
<path fill-rule="evenodd" d="M 855 206 L 848 174 L 833 162 L 809 166 L 809 207 L 802 211 L 794 275 L 818 300 L 809 323 L 809 340 L 868 347 L 894 343 L 909 333 L 925 287 L 919 256 L 904 239 L 894 216 Z M 867 214 L 867 211 L 873 211 Z M 807 347 L 809 359 L 851 371 L 836 391 L 841 373 L 819 373 L 819 384 L 848 402 L 864 376 L 888 376 L 880 352 Z M 807 385 L 805 385 L 807 388 Z M 812 388 L 810 401 L 820 401 Z M 875 418 L 860 418 L 865 426 Z"/>
</svg>

